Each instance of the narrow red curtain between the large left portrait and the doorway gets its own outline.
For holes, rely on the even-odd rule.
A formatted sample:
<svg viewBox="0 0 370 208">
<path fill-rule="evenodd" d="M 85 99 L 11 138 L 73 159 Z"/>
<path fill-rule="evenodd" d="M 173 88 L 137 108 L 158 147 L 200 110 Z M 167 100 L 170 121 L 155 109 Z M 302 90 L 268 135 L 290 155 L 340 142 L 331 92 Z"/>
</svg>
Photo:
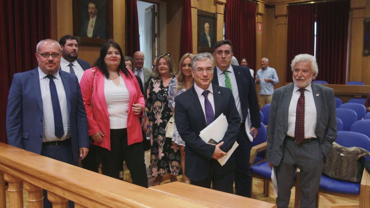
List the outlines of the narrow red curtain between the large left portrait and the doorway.
<svg viewBox="0 0 370 208">
<path fill-rule="evenodd" d="M 140 50 L 137 0 L 126 0 L 126 56 Z"/>
</svg>

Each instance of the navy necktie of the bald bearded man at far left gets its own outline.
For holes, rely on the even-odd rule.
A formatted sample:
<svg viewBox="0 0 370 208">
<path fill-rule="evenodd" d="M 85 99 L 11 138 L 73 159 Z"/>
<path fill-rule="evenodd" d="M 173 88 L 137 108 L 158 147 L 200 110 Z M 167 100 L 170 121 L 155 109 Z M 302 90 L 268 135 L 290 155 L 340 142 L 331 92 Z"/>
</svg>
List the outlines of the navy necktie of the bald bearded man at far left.
<svg viewBox="0 0 370 208">
<path fill-rule="evenodd" d="M 50 79 L 49 87 L 50 87 L 51 103 L 53 104 L 55 136 L 58 138 L 61 138 L 64 135 L 64 129 L 63 129 L 62 111 L 60 110 L 57 87 L 55 87 L 53 75 L 49 74 L 46 77 Z"/>
</svg>

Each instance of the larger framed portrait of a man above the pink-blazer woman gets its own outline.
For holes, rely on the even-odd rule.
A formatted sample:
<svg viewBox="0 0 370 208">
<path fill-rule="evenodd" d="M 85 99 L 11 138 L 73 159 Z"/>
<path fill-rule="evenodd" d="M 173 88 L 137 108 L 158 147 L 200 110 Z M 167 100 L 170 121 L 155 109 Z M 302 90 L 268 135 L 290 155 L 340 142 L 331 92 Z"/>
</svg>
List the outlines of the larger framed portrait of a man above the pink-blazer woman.
<svg viewBox="0 0 370 208">
<path fill-rule="evenodd" d="M 73 36 L 86 46 L 113 39 L 112 0 L 73 0 Z"/>
</svg>

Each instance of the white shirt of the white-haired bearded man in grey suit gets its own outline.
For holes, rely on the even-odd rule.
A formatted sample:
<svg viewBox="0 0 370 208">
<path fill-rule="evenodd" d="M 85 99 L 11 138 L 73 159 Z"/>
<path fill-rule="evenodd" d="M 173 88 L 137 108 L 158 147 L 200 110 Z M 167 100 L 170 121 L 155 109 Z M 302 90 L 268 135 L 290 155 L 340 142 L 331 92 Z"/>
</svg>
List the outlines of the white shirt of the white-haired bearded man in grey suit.
<svg viewBox="0 0 370 208">
<path fill-rule="evenodd" d="M 300 96 L 299 87 L 294 84 L 292 100 L 290 100 L 289 111 L 288 111 L 288 132 L 287 135 L 294 137 L 296 127 L 296 110 L 297 102 Z M 305 90 L 305 139 L 316 138 L 316 105 L 313 100 L 311 83 L 306 87 Z"/>
</svg>

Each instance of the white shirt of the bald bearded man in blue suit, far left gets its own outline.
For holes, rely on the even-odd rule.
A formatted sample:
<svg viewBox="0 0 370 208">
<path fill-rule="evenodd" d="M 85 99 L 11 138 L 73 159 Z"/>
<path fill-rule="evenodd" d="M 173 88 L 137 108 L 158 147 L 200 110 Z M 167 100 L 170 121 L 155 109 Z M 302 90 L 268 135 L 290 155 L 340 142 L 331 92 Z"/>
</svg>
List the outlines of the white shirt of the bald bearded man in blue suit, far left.
<svg viewBox="0 0 370 208">
<path fill-rule="evenodd" d="M 64 85 L 61 80 L 59 73 L 53 74 L 55 77 L 53 79 L 55 83 L 55 87 L 57 88 L 58 100 L 60 104 L 60 110 L 62 113 L 62 120 L 63 120 L 63 130 L 64 134 L 62 138 L 57 138 L 55 136 L 55 125 L 54 125 L 54 111 L 53 111 L 53 103 L 51 103 L 51 95 L 50 95 L 50 79 L 46 77 L 43 71 L 41 71 L 40 67 L 38 68 L 38 77 L 40 78 L 40 90 L 41 90 L 41 98 L 43 100 L 43 142 L 46 141 L 63 141 L 71 137 L 71 128 L 70 128 L 70 120 L 69 120 L 69 113 L 67 107 L 67 98 L 65 96 Z"/>
</svg>

